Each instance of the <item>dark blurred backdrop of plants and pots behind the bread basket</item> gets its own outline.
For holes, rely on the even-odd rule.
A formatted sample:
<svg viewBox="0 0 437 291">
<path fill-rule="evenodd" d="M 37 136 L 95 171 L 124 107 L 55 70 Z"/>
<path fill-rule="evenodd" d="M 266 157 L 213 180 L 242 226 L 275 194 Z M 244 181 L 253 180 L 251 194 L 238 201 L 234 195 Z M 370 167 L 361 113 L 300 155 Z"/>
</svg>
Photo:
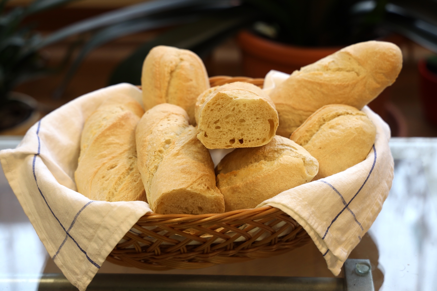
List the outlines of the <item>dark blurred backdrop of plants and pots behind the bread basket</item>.
<svg viewBox="0 0 437 291">
<path fill-rule="evenodd" d="M 435 0 L 0 0 L 0 134 L 23 135 L 87 92 L 140 85 L 156 45 L 194 51 L 209 76 L 263 78 L 368 40 L 404 56 L 371 108 L 392 136 L 437 137 Z"/>
</svg>

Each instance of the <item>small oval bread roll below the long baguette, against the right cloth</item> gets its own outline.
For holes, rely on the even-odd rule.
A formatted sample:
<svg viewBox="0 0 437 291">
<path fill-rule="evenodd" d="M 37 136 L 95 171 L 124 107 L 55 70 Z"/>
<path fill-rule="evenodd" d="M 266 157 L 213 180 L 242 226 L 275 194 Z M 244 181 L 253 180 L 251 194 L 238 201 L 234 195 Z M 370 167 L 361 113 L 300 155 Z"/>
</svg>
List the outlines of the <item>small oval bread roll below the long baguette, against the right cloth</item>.
<svg viewBox="0 0 437 291">
<path fill-rule="evenodd" d="M 326 105 L 298 127 L 291 140 L 319 161 L 314 180 L 334 175 L 364 161 L 375 143 L 376 127 L 355 107 Z"/>
</svg>

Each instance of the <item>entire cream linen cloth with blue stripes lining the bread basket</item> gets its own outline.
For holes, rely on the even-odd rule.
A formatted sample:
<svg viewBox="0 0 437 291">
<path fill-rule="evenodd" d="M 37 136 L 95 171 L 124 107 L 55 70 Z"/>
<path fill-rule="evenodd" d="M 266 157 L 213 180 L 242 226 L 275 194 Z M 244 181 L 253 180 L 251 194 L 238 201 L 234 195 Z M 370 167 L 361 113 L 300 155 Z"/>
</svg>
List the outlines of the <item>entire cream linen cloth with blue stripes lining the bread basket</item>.
<svg viewBox="0 0 437 291">
<path fill-rule="evenodd" d="M 286 74 L 276 74 L 276 79 L 271 75 L 274 87 Z M 91 201 L 76 192 L 74 171 L 83 123 L 108 96 L 118 93 L 142 103 L 141 91 L 130 84 L 88 93 L 42 118 L 16 149 L 0 152 L 3 171 L 36 233 L 81 291 L 125 233 L 151 212 L 145 202 Z M 363 111 L 377 127 L 375 146 L 365 161 L 257 206 L 272 205 L 296 219 L 336 275 L 381 210 L 393 178 L 388 125 L 367 106 Z M 217 153 L 215 163 L 227 151 Z"/>
</svg>

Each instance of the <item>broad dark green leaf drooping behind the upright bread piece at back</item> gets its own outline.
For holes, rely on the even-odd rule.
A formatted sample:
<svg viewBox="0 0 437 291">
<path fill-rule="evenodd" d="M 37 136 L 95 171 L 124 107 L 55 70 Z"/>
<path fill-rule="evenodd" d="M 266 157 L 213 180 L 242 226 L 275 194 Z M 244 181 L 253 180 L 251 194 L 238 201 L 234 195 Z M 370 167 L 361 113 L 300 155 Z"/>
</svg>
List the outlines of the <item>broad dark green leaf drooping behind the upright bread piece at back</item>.
<svg viewBox="0 0 437 291">
<path fill-rule="evenodd" d="M 160 34 L 154 40 L 139 47 L 132 55 L 121 62 L 112 73 L 109 84 L 128 82 L 139 85 L 141 83 L 144 58 L 146 58 L 150 49 L 157 45 L 191 49 L 199 54 L 205 54 L 218 42 L 225 37 L 229 37 L 230 34 L 236 33 L 258 15 L 247 7 L 237 8 L 204 17 L 195 23 L 185 24 Z"/>
</svg>

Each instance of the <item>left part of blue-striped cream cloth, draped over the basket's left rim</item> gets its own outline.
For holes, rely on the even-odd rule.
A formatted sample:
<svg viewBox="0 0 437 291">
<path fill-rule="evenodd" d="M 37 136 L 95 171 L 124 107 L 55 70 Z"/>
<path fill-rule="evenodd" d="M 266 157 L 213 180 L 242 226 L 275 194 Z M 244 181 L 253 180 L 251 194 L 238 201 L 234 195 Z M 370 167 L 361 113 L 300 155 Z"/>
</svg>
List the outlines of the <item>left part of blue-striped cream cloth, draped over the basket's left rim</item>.
<svg viewBox="0 0 437 291">
<path fill-rule="evenodd" d="M 146 212 L 146 202 L 91 201 L 76 192 L 74 171 L 83 123 L 112 94 L 142 103 L 130 84 L 100 89 L 48 114 L 16 149 L 0 152 L 9 184 L 42 243 L 66 278 L 87 288 L 114 246 Z"/>
</svg>

